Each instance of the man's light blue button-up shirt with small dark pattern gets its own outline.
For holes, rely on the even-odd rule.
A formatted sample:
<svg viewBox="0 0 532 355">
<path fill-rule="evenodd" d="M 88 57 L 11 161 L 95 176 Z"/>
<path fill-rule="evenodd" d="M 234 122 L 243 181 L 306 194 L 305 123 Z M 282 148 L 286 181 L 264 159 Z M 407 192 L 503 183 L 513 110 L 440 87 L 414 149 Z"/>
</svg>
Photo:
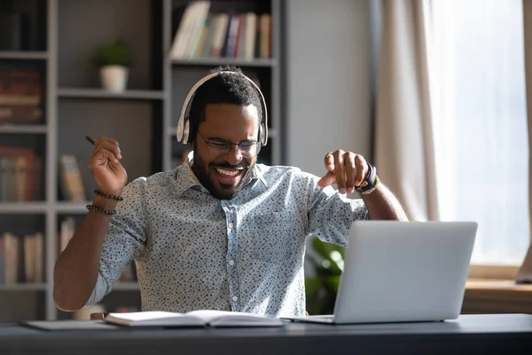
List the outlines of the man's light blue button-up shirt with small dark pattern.
<svg viewBox="0 0 532 355">
<path fill-rule="evenodd" d="M 233 200 L 220 201 L 189 164 L 125 186 L 86 306 L 135 260 L 143 311 L 304 314 L 306 238 L 346 246 L 351 223 L 367 217 L 364 202 L 297 168 L 259 163 Z"/>
</svg>

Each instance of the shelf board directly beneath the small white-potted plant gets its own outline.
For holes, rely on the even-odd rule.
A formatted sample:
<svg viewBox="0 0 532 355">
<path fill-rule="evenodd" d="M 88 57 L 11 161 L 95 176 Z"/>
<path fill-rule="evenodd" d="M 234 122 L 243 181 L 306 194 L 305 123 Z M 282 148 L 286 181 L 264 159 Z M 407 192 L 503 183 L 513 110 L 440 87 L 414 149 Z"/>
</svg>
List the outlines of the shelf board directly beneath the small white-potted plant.
<svg viewBox="0 0 532 355">
<path fill-rule="evenodd" d="M 74 89 L 63 88 L 58 90 L 59 98 L 79 98 L 79 99 L 141 99 L 157 100 L 164 99 L 162 91 L 129 90 L 121 93 L 114 93 L 102 89 Z"/>
</svg>

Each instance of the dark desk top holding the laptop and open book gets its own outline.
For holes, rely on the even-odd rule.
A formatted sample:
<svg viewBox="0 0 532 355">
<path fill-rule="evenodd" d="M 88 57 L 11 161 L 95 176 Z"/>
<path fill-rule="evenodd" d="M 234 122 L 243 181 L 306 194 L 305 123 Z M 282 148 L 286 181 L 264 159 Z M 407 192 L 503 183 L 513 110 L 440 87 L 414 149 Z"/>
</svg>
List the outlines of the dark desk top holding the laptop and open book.
<svg viewBox="0 0 532 355">
<path fill-rule="evenodd" d="M 276 328 L 43 331 L 0 326 L 2 354 L 532 353 L 532 315 L 462 315 L 434 323 Z"/>
</svg>

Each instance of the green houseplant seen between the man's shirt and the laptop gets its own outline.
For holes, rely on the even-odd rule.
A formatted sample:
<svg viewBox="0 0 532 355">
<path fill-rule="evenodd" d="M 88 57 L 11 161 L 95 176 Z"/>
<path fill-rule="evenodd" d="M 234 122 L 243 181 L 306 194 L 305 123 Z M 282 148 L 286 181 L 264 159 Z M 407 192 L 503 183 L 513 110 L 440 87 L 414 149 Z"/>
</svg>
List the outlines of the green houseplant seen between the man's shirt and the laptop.
<svg viewBox="0 0 532 355">
<path fill-rule="evenodd" d="M 307 312 L 332 314 L 343 272 L 344 248 L 311 236 L 313 252 L 307 253 L 314 275 L 305 278 Z"/>
</svg>

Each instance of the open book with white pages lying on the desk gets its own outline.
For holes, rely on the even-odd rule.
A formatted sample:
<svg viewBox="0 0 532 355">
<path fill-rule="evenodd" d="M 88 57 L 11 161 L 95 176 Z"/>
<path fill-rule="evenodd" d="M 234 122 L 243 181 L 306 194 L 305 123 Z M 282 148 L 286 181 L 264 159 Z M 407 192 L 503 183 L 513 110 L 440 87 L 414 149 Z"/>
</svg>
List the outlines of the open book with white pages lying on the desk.
<svg viewBox="0 0 532 355">
<path fill-rule="evenodd" d="M 128 327 L 282 327 L 282 319 L 247 312 L 111 312 L 106 322 Z"/>
</svg>

